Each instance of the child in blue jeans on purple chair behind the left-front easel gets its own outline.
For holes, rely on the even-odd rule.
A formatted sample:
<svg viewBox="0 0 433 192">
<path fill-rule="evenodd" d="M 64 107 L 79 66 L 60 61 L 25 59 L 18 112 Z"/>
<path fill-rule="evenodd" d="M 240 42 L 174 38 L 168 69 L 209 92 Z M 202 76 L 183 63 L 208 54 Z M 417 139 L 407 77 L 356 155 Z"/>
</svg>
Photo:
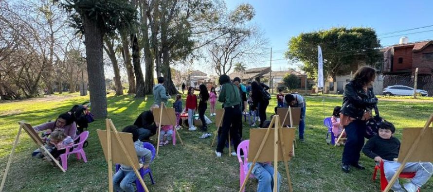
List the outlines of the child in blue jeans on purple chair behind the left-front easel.
<svg viewBox="0 0 433 192">
<path fill-rule="evenodd" d="M 150 159 L 152 158 L 152 152 L 143 146 L 143 142 L 138 140 L 138 127 L 135 125 L 126 126 L 122 132 L 132 133 L 132 140 L 134 141 L 135 151 L 137 153 L 139 163 L 143 164 L 143 169 L 146 169 L 150 165 Z M 115 155 L 115 154 L 113 154 Z M 142 160 L 144 157 L 144 162 Z M 132 167 L 122 164 L 119 171 L 113 176 L 113 187 L 114 191 L 118 192 L 134 192 L 135 179 L 137 176 L 134 173 Z"/>
</svg>

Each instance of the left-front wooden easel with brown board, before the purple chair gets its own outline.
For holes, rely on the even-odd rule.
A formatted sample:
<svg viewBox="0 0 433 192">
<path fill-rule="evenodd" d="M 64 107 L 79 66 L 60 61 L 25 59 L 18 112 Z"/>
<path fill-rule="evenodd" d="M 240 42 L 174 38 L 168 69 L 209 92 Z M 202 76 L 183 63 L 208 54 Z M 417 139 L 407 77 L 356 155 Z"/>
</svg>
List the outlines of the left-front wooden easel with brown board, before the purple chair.
<svg viewBox="0 0 433 192">
<path fill-rule="evenodd" d="M 99 140 L 101 141 L 101 145 L 103 147 L 104 154 L 106 155 L 106 160 L 108 163 L 108 191 L 113 192 L 112 163 L 122 163 L 122 164 L 126 164 L 128 166 L 131 166 L 133 168 L 135 175 L 137 176 L 141 185 L 144 188 L 144 191 L 149 192 L 146 184 L 144 183 L 143 177 L 138 172 L 138 169 L 140 168 L 139 166 L 141 166 L 141 165 L 138 163 L 137 154 L 135 152 L 135 148 L 134 148 L 133 141 L 132 141 L 132 134 L 121 132 L 121 134 L 122 134 L 122 136 L 121 136 L 121 134 L 119 132 L 117 132 L 116 127 L 114 126 L 113 122 L 110 119 L 106 119 L 105 123 L 106 123 L 106 130 L 96 130 L 96 131 L 98 132 L 98 137 L 99 137 Z M 107 135 L 106 138 L 104 138 L 105 135 Z M 114 140 L 115 142 L 112 142 L 112 140 L 111 140 L 112 135 L 114 135 L 114 137 L 115 137 L 115 140 Z M 107 142 L 105 142 L 105 140 L 107 140 Z M 126 142 L 126 141 L 129 141 L 129 142 Z M 129 145 L 126 146 L 125 142 L 126 142 L 126 144 L 129 144 Z M 116 154 L 116 157 L 114 158 L 115 160 L 113 160 L 113 157 L 112 157 L 112 151 L 111 151 L 112 145 L 113 145 L 113 148 L 115 149 L 115 151 L 114 151 Z M 120 149 L 119 149 L 118 145 L 120 146 Z M 128 150 L 127 150 L 127 148 L 128 148 Z M 135 156 L 134 156 L 134 154 L 135 154 Z"/>
</svg>

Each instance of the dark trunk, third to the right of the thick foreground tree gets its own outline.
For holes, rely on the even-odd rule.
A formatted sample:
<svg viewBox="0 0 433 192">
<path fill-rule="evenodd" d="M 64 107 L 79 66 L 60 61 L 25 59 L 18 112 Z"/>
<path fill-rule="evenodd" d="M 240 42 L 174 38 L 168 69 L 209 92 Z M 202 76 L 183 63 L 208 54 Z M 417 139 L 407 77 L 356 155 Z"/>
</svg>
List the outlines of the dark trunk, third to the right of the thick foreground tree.
<svg viewBox="0 0 433 192">
<path fill-rule="evenodd" d="M 135 74 L 135 97 L 144 97 L 144 77 L 140 66 L 140 48 L 138 47 L 137 35 L 131 35 L 132 42 L 132 64 L 134 66 Z"/>
</svg>

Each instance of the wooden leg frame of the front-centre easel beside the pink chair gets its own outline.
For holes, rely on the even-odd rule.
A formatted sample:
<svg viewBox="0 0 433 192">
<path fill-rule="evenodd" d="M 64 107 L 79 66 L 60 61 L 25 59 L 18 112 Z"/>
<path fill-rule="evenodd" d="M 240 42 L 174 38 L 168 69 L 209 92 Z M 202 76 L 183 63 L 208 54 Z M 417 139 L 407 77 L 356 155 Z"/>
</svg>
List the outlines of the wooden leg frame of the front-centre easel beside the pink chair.
<svg viewBox="0 0 433 192">
<path fill-rule="evenodd" d="M 266 130 L 266 134 L 263 137 L 263 140 L 260 143 L 260 147 L 257 151 L 257 153 L 255 154 L 254 158 L 253 158 L 253 164 L 251 165 L 250 169 L 248 170 L 247 175 L 245 176 L 245 180 L 242 183 L 242 187 L 239 189 L 239 192 L 242 192 L 243 189 L 245 188 L 245 185 L 247 184 L 248 179 L 250 178 L 251 172 L 253 171 L 253 167 L 255 165 L 255 163 L 257 162 L 257 159 L 260 157 L 260 154 L 262 153 L 262 150 L 265 146 L 266 141 L 268 140 L 268 137 L 271 133 L 271 129 L 272 126 L 275 124 L 275 128 L 274 128 L 274 178 L 278 178 L 278 150 L 281 150 L 282 152 L 282 156 L 283 156 L 283 161 L 284 161 L 284 166 L 286 168 L 286 174 L 287 174 L 287 181 L 289 184 L 289 191 L 293 192 L 292 189 L 292 185 L 291 185 L 291 179 L 290 179 L 290 174 L 289 174 L 289 164 L 288 164 L 288 157 L 289 154 L 286 152 L 285 148 L 285 142 L 283 140 L 283 131 L 282 131 L 282 127 L 280 124 L 280 117 L 278 115 L 273 116 L 272 120 L 271 120 L 271 124 L 269 124 L 268 129 Z M 286 129 L 286 128 L 284 128 Z M 293 135 L 294 137 L 294 135 Z M 251 141 L 250 141 L 250 145 L 251 145 Z M 251 148 L 250 148 L 250 152 L 251 152 Z M 274 179 L 273 181 L 273 191 L 277 192 L 277 186 L 278 186 L 278 179 Z"/>
</svg>

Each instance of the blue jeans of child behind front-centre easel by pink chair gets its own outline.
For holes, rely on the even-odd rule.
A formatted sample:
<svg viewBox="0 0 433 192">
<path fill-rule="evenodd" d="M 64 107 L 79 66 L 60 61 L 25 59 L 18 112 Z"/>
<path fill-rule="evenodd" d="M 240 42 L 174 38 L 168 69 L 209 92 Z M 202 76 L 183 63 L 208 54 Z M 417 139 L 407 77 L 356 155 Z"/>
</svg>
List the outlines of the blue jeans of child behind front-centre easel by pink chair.
<svg viewBox="0 0 433 192">
<path fill-rule="evenodd" d="M 248 163 L 248 169 L 253 163 Z M 273 191 L 273 174 L 274 169 L 268 163 L 255 163 L 253 167 L 253 175 L 259 180 L 257 192 L 272 192 Z M 281 175 L 278 173 L 277 192 L 280 191 Z"/>
</svg>

